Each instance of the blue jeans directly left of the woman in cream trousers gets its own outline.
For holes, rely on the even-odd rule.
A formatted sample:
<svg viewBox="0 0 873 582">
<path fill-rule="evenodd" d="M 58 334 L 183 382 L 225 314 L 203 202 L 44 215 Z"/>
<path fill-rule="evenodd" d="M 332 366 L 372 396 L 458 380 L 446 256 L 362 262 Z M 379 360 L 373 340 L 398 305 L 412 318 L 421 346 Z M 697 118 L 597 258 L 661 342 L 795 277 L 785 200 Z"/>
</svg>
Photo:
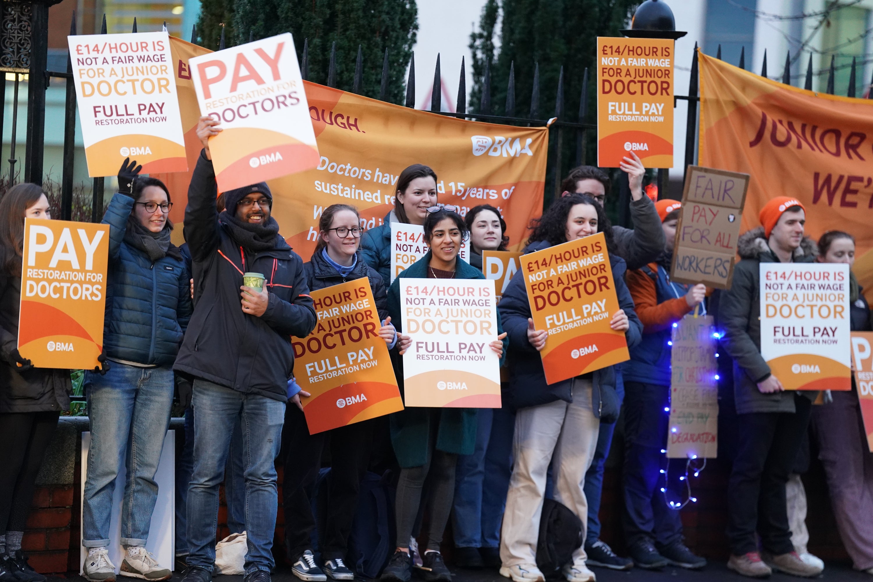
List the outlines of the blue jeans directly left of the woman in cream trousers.
<svg viewBox="0 0 873 582">
<path fill-rule="evenodd" d="M 476 448 L 459 455 L 452 531 L 459 548 L 497 548 L 512 476 L 515 414 L 509 407 L 479 408 Z"/>
</svg>

